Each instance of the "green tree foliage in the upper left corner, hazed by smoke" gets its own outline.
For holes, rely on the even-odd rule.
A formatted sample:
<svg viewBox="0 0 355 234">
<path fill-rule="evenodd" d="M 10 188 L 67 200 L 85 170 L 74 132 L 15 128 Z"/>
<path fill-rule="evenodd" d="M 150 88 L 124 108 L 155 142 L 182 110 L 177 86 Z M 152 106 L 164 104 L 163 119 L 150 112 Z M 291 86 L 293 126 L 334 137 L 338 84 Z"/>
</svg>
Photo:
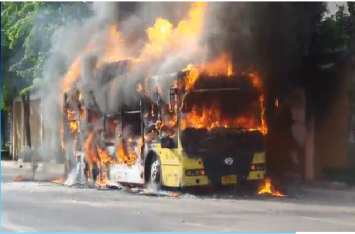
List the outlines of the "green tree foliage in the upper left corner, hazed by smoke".
<svg viewBox="0 0 355 234">
<path fill-rule="evenodd" d="M 2 110 L 18 94 L 14 87 L 23 94 L 40 85 L 53 35 L 88 16 L 88 9 L 84 2 L 1 2 Z"/>
</svg>

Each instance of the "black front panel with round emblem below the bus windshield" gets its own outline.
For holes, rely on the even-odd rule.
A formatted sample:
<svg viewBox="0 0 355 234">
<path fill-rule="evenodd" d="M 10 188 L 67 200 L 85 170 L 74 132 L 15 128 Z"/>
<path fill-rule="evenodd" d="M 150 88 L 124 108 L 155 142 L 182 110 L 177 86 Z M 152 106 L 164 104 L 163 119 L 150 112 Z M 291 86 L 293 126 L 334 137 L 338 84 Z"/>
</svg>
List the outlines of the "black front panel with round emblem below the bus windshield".
<svg viewBox="0 0 355 234">
<path fill-rule="evenodd" d="M 201 158 L 212 184 L 220 184 L 226 175 L 247 180 L 255 153 L 264 151 L 264 136 L 259 131 L 186 129 L 181 142 L 187 157 Z"/>
</svg>

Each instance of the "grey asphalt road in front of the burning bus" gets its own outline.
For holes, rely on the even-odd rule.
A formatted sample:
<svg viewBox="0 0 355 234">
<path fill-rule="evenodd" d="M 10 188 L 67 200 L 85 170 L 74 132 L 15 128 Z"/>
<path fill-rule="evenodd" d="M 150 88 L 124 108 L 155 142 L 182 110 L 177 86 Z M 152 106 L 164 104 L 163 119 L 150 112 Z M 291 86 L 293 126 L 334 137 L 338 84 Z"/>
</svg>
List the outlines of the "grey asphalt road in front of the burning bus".
<svg viewBox="0 0 355 234">
<path fill-rule="evenodd" d="M 354 231 L 355 205 L 307 199 L 149 197 L 12 182 L 1 170 L 1 232 Z"/>
</svg>

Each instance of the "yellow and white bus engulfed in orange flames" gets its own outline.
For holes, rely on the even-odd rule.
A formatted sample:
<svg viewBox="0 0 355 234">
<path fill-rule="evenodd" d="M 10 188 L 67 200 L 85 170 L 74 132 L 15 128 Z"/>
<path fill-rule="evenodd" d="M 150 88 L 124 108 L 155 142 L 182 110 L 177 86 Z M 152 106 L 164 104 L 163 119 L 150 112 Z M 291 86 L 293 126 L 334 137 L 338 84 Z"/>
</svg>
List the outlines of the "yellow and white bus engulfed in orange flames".
<svg viewBox="0 0 355 234">
<path fill-rule="evenodd" d="M 71 143 L 63 149 L 75 156 L 76 176 L 92 179 L 97 168 L 104 185 L 175 188 L 264 179 L 263 99 L 252 74 L 190 66 L 136 85 L 130 104 L 111 114 L 86 106 L 78 91 L 64 94 Z"/>
</svg>

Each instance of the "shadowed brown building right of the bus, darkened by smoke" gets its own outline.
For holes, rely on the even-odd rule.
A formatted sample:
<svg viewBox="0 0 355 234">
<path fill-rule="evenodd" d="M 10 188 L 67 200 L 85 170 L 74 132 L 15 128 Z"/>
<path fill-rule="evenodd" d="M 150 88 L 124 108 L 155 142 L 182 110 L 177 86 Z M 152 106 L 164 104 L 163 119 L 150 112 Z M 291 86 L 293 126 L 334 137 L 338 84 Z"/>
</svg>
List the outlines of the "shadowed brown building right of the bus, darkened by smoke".
<svg viewBox="0 0 355 234">
<path fill-rule="evenodd" d="M 355 173 L 348 63 L 344 51 L 311 58 L 304 84 L 283 97 L 267 136 L 270 176 L 342 181 L 339 173 Z"/>
</svg>

